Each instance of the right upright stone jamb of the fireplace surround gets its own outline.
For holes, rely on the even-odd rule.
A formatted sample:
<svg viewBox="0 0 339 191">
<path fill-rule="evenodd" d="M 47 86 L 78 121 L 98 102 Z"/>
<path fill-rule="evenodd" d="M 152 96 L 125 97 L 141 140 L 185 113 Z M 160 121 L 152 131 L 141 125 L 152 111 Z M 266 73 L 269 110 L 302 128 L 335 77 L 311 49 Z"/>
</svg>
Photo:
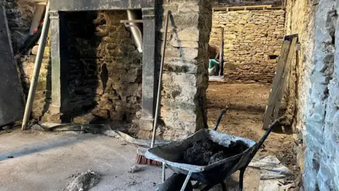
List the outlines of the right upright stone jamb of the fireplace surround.
<svg viewBox="0 0 339 191">
<path fill-rule="evenodd" d="M 155 73 L 155 8 L 143 8 L 143 85 L 142 116 L 140 129 L 152 130 L 155 113 L 156 85 Z"/>
</svg>

